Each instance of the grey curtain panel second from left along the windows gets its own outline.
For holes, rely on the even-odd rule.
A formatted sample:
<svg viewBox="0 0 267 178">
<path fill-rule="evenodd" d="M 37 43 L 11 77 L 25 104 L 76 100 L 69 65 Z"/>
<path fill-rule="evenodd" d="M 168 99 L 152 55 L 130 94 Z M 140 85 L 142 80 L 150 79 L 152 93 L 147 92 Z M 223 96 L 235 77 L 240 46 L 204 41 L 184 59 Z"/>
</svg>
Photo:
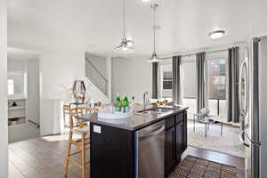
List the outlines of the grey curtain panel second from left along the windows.
<svg viewBox="0 0 267 178">
<path fill-rule="evenodd" d="M 173 56 L 173 101 L 174 104 L 182 104 L 181 88 L 181 56 Z"/>
</svg>

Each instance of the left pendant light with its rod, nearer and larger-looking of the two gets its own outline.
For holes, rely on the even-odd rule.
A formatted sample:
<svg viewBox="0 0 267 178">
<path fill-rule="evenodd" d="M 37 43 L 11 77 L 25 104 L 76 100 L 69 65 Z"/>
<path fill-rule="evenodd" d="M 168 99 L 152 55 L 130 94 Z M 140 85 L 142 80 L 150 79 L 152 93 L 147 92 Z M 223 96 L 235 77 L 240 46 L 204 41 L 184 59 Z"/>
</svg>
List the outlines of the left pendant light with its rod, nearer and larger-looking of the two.
<svg viewBox="0 0 267 178">
<path fill-rule="evenodd" d="M 120 43 L 120 45 L 118 45 L 115 49 L 114 52 L 115 53 L 122 53 L 122 54 L 126 54 L 126 53 L 134 53 L 134 48 L 132 47 L 134 44 L 134 41 L 131 39 L 127 39 L 126 38 L 126 0 L 124 0 L 124 7 L 123 7 L 123 16 L 124 16 L 124 22 L 123 22 L 123 26 L 124 26 L 124 36 L 122 38 L 122 42 Z"/>
</svg>

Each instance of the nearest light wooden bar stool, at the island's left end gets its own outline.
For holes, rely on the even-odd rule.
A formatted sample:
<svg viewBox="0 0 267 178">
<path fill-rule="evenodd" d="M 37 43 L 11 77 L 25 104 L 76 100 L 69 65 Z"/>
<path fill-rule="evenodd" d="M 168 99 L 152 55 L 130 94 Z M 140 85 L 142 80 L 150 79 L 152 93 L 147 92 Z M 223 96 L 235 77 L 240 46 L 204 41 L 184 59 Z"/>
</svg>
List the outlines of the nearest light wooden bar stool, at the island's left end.
<svg viewBox="0 0 267 178">
<path fill-rule="evenodd" d="M 95 114 L 98 112 L 98 109 L 92 109 L 87 107 L 77 107 L 74 109 L 70 109 L 70 119 L 69 119 L 69 142 L 67 145 L 67 152 L 65 157 L 65 170 L 64 170 L 64 177 L 67 177 L 68 169 L 69 169 L 69 162 L 74 164 L 75 166 L 78 166 L 82 170 L 82 178 L 85 178 L 85 165 L 89 164 L 90 161 L 85 160 L 85 152 L 86 150 L 89 150 L 90 147 L 90 127 L 89 125 L 85 125 L 82 120 L 78 121 L 78 128 L 74 128 L 73 118 L 77 117 L 78 114 Z M 73 135 L 77 134 L 80 136 L 80 139 L 73 139 Z M 78 150 L 71 151 L 71 146 L 77 147 Z M 73 158 L 70 158 L 71 156 L 77 155 L 81 153 L 82 154 L 82 163 L 77 163 L 76 160 Z"/>
</svg>

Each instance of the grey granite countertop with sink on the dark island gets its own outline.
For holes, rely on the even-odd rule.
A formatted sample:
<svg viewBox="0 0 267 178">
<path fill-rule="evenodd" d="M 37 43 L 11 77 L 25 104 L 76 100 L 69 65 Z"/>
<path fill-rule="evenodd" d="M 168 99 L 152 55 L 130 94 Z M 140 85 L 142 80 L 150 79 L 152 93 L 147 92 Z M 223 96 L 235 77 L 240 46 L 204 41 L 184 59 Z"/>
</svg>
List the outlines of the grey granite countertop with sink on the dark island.
<svg viewBox="0 0 267 178">
<path fill-rule="evenodd" d="M 151 108 L 155 108 L 155 106 L 147 107 L 147 109 Z M 168 111 L 163 113 L 142 114 L 138 113 L 138 111 L 142 110 L 142 107 L 136 107 L 135 112 L 131 117 L 122 119 L 100 118 L 97 116 L 97 114 L 87 114 L 87 115 L 85 114 L 82 116 L 77 116 L 77 118 L 85 121 L 90 121 L 91 123 L 94 124 L 109 125 L 117 128 L 123 128 L 126 130 L 135 131 L 145 126 L 156 123 L 160 120 L 163 120 L 166 117 L 176 115 L 177 113 L 182 112 L 185 109 L 188 109 L 188 107 L 182 107 L 182 106 L 160 106 L 158 108 L 168 109 Z"/>
</svg>

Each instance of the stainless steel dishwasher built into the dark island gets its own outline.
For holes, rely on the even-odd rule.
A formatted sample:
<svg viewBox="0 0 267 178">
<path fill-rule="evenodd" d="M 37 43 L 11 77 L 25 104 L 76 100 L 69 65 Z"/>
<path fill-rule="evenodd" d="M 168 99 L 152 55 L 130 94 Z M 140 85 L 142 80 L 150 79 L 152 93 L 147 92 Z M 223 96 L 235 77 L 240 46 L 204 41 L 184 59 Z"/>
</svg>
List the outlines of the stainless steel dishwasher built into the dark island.
<svg viewBox="0 0 267 178">
<path fill-rule="evenodd" d="M 165 177 L 165 120 L 136 132 L 136 177 Z"/>
</svg>

